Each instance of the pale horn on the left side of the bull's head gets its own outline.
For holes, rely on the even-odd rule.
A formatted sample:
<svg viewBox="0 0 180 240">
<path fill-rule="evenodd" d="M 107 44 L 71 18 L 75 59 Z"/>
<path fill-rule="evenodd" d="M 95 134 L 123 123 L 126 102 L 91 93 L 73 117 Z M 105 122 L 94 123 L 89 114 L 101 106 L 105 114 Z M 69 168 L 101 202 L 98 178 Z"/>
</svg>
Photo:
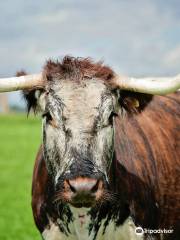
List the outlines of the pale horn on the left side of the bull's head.
<svg viewBox="0 0 180 240">
<path fill-rule="evenodd" d="M 20 77 L 0 78 L 0 92 L 43 88 L 43 86 L 44 80 L 42 73 Z"/>
</svg>

